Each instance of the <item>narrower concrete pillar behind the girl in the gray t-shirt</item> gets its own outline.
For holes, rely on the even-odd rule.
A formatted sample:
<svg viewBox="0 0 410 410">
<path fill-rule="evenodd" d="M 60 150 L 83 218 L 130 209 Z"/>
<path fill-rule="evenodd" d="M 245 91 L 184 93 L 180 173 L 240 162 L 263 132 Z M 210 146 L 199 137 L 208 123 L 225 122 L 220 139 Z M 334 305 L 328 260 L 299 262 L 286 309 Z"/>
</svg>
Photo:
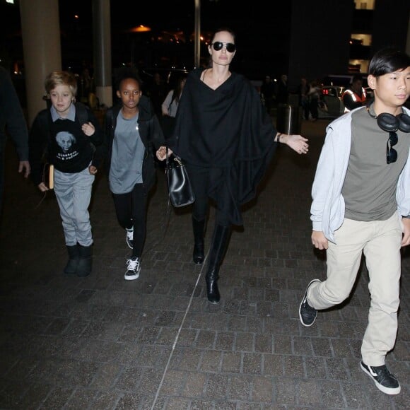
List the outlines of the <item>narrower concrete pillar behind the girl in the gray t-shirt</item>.
<svg viewBox="0 0 410 410">
<path fill-rule="evenodd" d="M 101 105 L 112 105 L 110 0 L 93 0 L 95 93 Z"/>
</svg>

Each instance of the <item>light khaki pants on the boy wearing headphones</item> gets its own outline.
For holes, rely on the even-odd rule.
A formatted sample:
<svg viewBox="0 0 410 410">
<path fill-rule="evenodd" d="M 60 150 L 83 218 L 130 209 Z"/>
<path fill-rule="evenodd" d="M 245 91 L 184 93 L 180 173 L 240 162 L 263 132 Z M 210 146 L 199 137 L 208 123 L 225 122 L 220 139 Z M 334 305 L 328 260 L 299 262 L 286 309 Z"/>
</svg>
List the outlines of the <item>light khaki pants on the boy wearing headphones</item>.
<svg viewBox="0 0 410 410">
<path fill-rule="evenodd" d="M 329 242 L 327 250 L 327 280 L 312 283 L 307 292 L 307 302 L 321 310 L 348 298 L 363 251 L 369 271 L 371 300 L 361 354 L 367 365 L 384 365 L 385 356 L 392 350 L 397 335 L 401 217 L 394 213 L 387 221 L 345 219 L 334 238 L 337 245 Z"/>
</svg>

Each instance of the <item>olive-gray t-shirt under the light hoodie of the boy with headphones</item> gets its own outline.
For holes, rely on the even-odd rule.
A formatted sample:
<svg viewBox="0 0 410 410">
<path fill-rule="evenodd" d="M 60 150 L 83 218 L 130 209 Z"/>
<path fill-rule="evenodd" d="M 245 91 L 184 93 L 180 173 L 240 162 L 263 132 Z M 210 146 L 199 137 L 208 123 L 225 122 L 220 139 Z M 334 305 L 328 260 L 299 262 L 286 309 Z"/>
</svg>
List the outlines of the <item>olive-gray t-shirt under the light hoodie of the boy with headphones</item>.
<svg viewBox="0 0 410 410">
<path fill-rule="evenodd" d="M 373 107 L 370 107 L 373 113 Z M 345 217 L 354 221 L 385 221 L 397 211 L 396 188 L 409 156 L 410 135 L 397 131 L 393 148 L 397 161 L 387 164 L 389 133 L 377 125 L 367 110 L 353 112 L 351 151 L 346 179 L 341 191 Z"/>
</svg>

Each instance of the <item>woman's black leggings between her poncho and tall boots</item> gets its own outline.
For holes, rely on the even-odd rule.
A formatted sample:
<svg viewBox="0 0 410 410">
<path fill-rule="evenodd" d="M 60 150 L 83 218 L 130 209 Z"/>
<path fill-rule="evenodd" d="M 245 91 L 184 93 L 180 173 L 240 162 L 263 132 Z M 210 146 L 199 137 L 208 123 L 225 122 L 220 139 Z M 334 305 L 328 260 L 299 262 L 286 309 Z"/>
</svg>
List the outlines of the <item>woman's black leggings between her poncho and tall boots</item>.
<svg viewBox="0 0 410 410">
<path fill-rule="evenodd" d="M 189 180 L 195 194 L 195 201 L 192 208 L 192 217 L 197 221 L 206 218 L 209 208 L 209 197 L 206 193 L 209 187 L 209 170 L 210 168 L 187 165 Z M 215 172 L 215 170 L 213 170 Z M 222 172 L 221 172 L 222 174 Z M 216 204 L 216 225 L 230 226 L 230 218 L 218 209 Z"/>
</svg>

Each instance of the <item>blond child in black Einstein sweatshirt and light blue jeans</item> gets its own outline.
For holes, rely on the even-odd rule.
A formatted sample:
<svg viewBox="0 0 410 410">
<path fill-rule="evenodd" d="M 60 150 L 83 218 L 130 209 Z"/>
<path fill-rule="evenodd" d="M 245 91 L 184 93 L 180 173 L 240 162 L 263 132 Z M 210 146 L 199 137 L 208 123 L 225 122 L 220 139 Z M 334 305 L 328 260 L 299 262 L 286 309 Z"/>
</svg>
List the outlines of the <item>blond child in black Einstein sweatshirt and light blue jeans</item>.
<svg viewBox="0 0 410 410">
<path fill-rule="evenodd" d="M 88 276 L 93 245 L 88 206 L 95 179 L 90 165 L 95 146 L 102 142 L 102 129 L 91 110 L 81 103 L 76 106 L 74 74 L 53 71 L 45 78 L 45 90 L 51 107 L 37 114 L 30 129 L 31 176 L 41 192 L 49 189 L 42 181 L 43 157 L 47 153 L 47 161 L 54 165 L 54 193 L 69 254 L 64 273 Z M 80 110 L 86 114 L 83 123 Z"/>
</svg>

